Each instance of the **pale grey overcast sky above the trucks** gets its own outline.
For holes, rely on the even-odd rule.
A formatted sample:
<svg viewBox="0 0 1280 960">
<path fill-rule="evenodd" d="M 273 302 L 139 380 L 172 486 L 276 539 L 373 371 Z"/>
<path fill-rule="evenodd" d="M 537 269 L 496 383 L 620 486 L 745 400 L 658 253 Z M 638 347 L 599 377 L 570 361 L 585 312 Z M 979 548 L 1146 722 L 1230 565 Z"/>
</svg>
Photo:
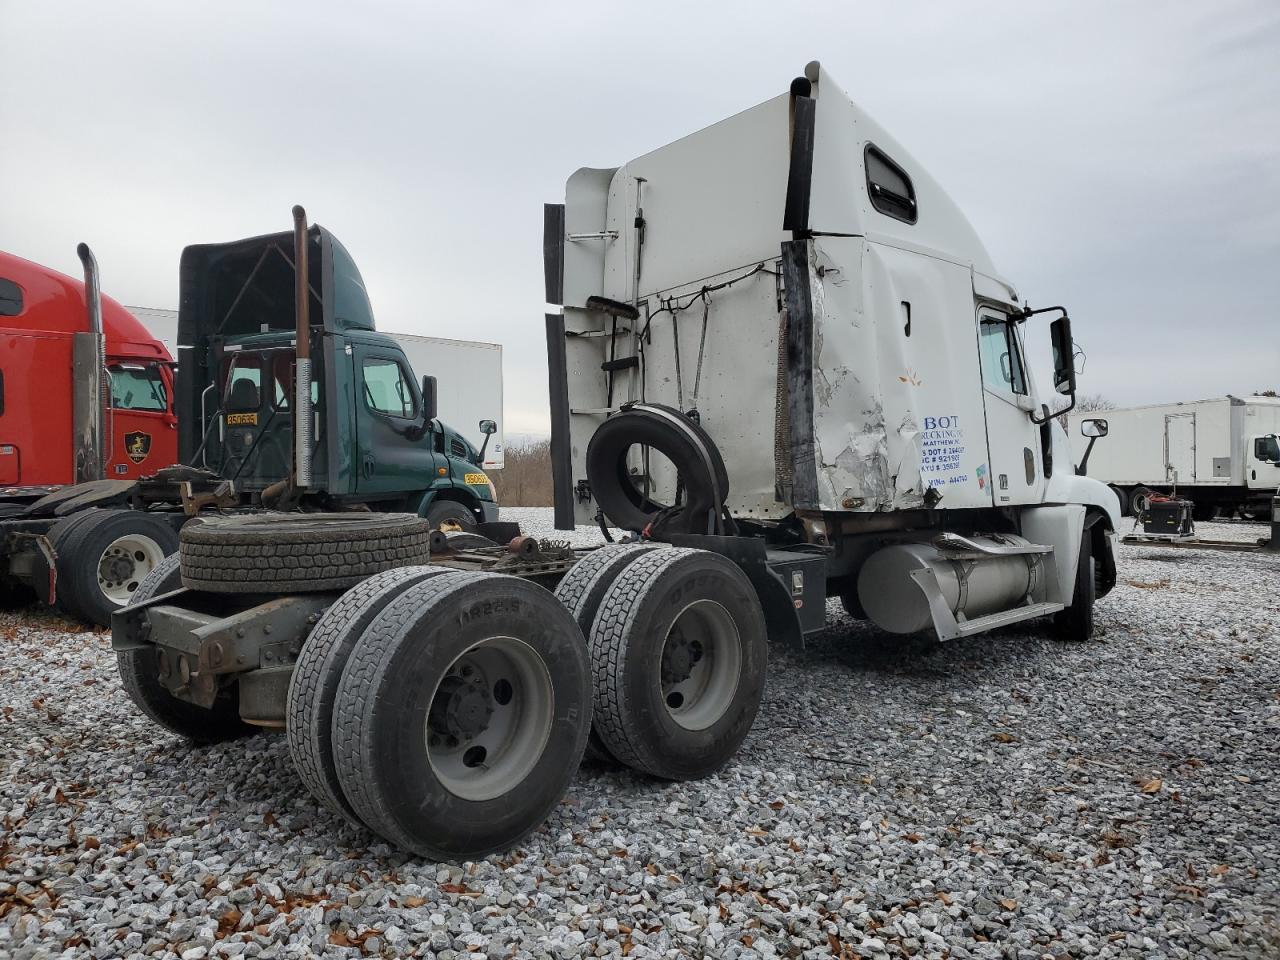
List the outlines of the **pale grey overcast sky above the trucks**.
<svg viewBox="0 0 1280 960">
<path fill-rule="evenodd" d="M 506 346 L 547 430 L 541 204 L 818 59 L 957 200 L 1083 392 L 1280 388 L 1280 4 L 0 0 L 0 250 L 175 307 L 187 243 L 353 253 L 383 329 Z"/>
</svg>

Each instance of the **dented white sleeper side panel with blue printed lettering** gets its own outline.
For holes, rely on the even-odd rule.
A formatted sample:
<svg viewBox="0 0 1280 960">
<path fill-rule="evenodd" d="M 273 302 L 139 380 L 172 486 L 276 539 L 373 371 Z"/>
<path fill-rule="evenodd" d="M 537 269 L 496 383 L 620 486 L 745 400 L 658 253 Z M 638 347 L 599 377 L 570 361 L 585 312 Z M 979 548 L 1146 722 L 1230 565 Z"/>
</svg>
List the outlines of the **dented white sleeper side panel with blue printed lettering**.
<svg viewBox="0 0 1280 960">
<path fill-rule="evenodd" d="M 859 238 L 815 242 L 820 507 L 991 506 L 969 270 Z"/>
</svg>

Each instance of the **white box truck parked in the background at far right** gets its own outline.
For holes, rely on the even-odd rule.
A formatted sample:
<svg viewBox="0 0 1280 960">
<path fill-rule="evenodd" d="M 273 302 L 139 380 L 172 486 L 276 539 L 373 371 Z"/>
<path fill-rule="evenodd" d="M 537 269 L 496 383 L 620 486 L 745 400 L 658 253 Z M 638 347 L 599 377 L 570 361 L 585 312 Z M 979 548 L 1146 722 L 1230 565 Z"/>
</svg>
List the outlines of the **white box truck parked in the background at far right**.
<svg viewBox="0 0 1280 960">
<path fill-rule="evenodd" d="M 1197 520 L 1268 516 L 1280 486 L 1280 398 L 1217 397 L 1108 410 L 1107 439 L 1088 475 L 1108 484 L 1129 513 L 1152 493 L 1178 493 Z"/>
</svg>

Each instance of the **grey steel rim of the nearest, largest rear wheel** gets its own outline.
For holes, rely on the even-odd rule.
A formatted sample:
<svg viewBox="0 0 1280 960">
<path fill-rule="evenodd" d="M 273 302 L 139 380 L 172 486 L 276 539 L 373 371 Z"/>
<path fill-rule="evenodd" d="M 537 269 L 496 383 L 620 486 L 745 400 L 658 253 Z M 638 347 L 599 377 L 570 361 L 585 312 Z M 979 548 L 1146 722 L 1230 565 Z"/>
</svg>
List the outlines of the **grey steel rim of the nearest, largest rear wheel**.
<svg viewBox="0 0 1280 960">
<path fill-rule="evenodd" d="M 424 731 L 431 771 L 463 800 L 511 792 L 538 765 L 554 708 L 550 673 L 534 648 L 512 636 L 481 640 L 431 692 Z"/>
</svg>

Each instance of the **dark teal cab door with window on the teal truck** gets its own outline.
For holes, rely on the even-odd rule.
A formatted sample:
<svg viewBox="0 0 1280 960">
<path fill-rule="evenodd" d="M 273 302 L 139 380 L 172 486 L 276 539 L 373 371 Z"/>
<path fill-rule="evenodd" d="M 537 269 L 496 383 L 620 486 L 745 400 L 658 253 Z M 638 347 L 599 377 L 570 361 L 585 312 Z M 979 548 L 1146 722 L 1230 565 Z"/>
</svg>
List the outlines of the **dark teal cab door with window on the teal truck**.
<svg viewBox="0 0 1280 960">
<path fill-rule="evenodd" d="M 361 497 L 422 490 L 443 461 L 422 433 L 422 398 L 403 355 L 356 344 L 356 448 L 353 465 Z"/>
</svg>

